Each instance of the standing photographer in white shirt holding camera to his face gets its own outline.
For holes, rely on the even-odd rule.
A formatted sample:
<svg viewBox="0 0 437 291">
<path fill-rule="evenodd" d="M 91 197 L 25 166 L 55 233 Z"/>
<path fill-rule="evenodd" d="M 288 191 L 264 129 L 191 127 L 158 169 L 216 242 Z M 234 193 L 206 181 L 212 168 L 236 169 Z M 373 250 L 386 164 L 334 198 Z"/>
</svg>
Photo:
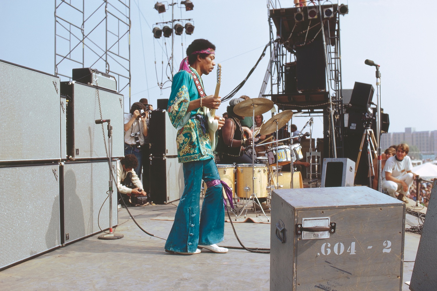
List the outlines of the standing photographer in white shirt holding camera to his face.
<svg viewBox="0 0 437 291">
<path fill-rule="evenodd" d="M 147 118 L 149 112 L 144 110 L 144 105 L 139 102 L 132 104 L 131 111 L 125 115 L 125 155 L 133 154 L 137 158 L 138 165 L 135 173 L 141 179 L 142 149 L 144 137 L 147 137 Z"/>
</svg>

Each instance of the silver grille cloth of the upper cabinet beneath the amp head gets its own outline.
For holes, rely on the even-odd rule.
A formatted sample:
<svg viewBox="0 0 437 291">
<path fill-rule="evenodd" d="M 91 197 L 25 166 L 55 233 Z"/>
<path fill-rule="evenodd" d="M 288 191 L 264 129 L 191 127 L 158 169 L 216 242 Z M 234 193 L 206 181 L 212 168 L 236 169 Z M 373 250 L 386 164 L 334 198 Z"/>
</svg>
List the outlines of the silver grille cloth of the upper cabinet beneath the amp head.
<svg viewBox="0 0 437 291">
<path fill-rule="evenodd" d="M 123 95 L 99 90 L 103 119 L 111 119 L 112 156 L 124 156 Z M 120 101 L 121 100 L 121 101 Z M 97 90 L 79 83 L 74 84 L 74 148 L 75 158 L 106 157 L 100 119 Z M 108 144 L 107 123 L 103 124 Z M 77 149 L 79 154 L 77 154 Z"/>
</svg>

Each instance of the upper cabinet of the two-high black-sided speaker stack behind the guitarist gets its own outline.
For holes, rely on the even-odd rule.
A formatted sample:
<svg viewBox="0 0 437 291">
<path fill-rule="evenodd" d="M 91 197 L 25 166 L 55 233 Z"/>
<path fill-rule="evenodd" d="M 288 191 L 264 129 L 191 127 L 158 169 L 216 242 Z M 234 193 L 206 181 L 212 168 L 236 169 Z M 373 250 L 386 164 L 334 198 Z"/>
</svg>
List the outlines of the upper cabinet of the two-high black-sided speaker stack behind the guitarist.
<svg viewBox="0 0 437 291">
<path fill-rule="evenodd" d="M 150 154 L 153 157 L 175 156 L 177 130 L 170 122 L 166 110 L 153 110 L 149 114 Z"/>
</svg>

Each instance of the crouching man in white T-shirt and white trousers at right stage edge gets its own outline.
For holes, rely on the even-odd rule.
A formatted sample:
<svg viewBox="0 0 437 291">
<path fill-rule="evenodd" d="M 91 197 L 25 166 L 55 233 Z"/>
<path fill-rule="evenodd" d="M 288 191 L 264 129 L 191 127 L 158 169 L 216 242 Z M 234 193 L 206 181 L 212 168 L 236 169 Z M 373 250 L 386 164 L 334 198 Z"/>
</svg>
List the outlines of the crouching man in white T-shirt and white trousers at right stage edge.
<svg viewBox="0 0 437 291">
<path fill-rule="evenodd" d="M 416 178 L 416 174 L 411 171 L 413 165 L 407 156 L 408 151 L 408 144 L 399 144 L 396 155 L 387 159 L 382 171 L 382 191 L 387 191 L 392 197 L 396 197 L 395 192 L 399 192 L 398 199 L 403 202 L 406 202 L 405 196 Z"/>
</svg>

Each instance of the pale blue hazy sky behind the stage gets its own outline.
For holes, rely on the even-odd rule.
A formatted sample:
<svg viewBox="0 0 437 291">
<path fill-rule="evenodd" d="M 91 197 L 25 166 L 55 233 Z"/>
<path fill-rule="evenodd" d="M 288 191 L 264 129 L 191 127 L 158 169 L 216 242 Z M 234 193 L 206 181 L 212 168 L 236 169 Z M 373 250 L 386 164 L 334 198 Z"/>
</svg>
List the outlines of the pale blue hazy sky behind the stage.
<svg viewBox="0 0 437 291">
<path fill-rule="evenodd" d="M 195 25 L 191 36 L 176 37 L 175 66 L 183 57 L 181 43 L 186 49 L 187 44 L 196 38 L 209 39 L 217 46 L 216 60 L 223 66 L 220 95 L 225 96 L 244 79 L 269 41 L 267 1 L 192 2 L 192 11 L 175 10 L 176 19 L 193 18 Z M 136 3 L 139 3 L 145 18 L 139 13 Z M 156 99 L 168 98 L 170 89 L 161 91 L 156 86 L 154 62 L 163 60 L 161 46 L 164 46 L 164 38 L 155 40 L 150 27 L 156 22 L 169 21 L 171 12 L 158 14 L 153 9 L 154 3 L 156 1 L 131 0 L 131 73 L 132 101 L 145 97 L 156 105 Z M 281 7 L 293 6 L 292 0 L 280 3 Z M 340 19 L 343 89 L 352 89 L 355 81 L 375 87 L 375 69 L 364 65 L 365 59 L 372 59 L 381 64 L 382 107 L 390 115 L 389 131 L 403 132 L 405 127 L 415 127 L 418 131 L 437 130 L 434 113 L 437 108 L 434 89 L 437 41 L 434 17 L 425 13 L 435 11 L 437 3 L 425 0 L 412 5 L 406 0 L 350 0 L 347 4 L 349 14 Z M 53 74 L 54 6 L 53 0 L 1 1 L 0 59 Z M 170 49 L 171 38 L 165 40 Z M 266 55 L 260 62 L 237 96 L 258 96 L 268 57 Z M 97 69 L 104 71 L 104 68 Z M 160 67 L 157 73 L 160 80 Z M 215 73 L 203 79 L 206 92 L 212 94 Z M 376 103 L 375 97 L 376 94 Z M 219 113 L 225 111 L 225 105 L 223 103 Z M 300 128 L 306 120 L 307 117 L 296 117 L 293 123 Z M 322 137 L 322 130 L 321 118 L 316 117 L 315 136 Z"/>
</svg>

